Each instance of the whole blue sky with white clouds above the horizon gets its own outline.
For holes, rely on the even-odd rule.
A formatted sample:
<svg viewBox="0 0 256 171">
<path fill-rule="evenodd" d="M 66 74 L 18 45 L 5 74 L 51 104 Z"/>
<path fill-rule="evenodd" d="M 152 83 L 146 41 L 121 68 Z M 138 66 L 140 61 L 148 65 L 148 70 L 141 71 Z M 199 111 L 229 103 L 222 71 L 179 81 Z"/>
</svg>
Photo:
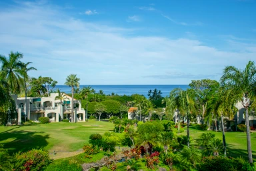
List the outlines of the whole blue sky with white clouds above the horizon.
<svg viewBox="0 0 256 171">
<path fill-rule="evenodd" d="M 64 85 L 188 85 L 256 61 L 255 0 L 0 1 L 0 55 Z"/>
</svg>

